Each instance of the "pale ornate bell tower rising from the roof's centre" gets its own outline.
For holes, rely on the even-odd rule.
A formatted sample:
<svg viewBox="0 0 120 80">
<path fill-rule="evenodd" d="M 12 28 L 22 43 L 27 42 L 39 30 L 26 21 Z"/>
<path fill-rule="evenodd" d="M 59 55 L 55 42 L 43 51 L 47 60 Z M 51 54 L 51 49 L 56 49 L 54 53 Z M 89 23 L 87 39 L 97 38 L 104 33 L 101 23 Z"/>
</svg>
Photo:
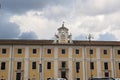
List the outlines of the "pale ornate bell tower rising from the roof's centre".
<svg viewBox="0 0 120 80">
<path fill-rule="evenodd" d="M 54 43 L 61 44 L 72 43 L 72 35 L 68 33 L 68 28 L 64 26 L 64 22 L 62 23 L 62 27 L 58 28 L 58 33 L 55 34 Z"/>
</svg>

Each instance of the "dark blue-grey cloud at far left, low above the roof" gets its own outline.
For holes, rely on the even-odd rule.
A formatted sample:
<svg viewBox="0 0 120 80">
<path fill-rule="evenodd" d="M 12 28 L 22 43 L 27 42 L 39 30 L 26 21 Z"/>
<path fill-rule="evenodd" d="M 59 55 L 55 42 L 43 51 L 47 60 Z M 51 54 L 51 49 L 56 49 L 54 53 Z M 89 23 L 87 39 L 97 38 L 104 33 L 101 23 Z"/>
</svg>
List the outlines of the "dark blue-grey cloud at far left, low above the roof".
<svg viewBox="0 0 120 80">
<path fill-rule="evenodd" d="M 9 18 L 10 15 L 0 15 L 0 39 L 37 39 L 37 35 L 34 32 L 21 34 L 20 27 L 10 22 Z"/>
</svg>

